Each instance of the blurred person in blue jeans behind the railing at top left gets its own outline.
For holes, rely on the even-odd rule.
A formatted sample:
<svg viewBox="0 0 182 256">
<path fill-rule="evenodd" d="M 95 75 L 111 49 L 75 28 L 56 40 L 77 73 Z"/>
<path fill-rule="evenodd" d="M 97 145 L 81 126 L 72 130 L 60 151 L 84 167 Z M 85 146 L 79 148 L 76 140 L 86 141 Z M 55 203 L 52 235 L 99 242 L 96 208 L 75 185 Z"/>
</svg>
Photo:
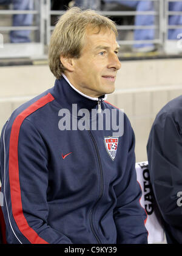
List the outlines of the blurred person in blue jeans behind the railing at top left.
<svg viewBox="0 0 182 256">
<path fill-rule="evenodd" d="M 0 0 L 0 4 L 13 4 L 14 10 L 33 10 L 33 0 Z M 33 14 L 13 15 L 13 26 L 31 26 Z M 10 43 L 30 43 L 30 30 L 13 30 Z"/>
</svg>

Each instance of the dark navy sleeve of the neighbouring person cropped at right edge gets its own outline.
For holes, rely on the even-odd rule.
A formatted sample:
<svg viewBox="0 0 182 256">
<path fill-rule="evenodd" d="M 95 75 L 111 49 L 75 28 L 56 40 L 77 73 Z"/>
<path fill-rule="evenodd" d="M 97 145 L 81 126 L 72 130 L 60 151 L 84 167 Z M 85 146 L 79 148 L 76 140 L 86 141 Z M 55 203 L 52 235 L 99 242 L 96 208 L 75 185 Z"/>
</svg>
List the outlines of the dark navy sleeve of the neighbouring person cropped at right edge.
<svg viewBox="0 0 182 256">
<path fill-rule="evenodd" d="M 150 180 L 161 215 L 178 243 L 182 242 L 181 142 L 177 118 L 167 112 L 158 115 L 147 143 Z"/>
</svg>

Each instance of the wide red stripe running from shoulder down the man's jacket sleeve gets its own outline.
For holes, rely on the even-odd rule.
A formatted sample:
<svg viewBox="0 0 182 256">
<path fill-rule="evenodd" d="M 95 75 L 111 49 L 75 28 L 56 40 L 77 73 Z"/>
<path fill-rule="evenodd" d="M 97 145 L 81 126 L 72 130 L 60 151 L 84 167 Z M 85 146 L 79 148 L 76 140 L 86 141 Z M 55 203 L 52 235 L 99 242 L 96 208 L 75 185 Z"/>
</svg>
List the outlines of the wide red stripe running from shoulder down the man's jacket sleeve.
<svg viewBox="0 0 182 256">
<path fill-rule="evenodd" d="M 15 222 L 27 240 L 32 244 L 45 244 L 47 241 L 43 240 L 39 235 L 33 230 L 27 220 L 25 219 L 22 210 L 21 201 L 21 189 L 19 184 L 19 167 L 18 167 L 18 138 L 19 130 L 24 119 L 35 112 L 37 109 L 41 108 L 45 104 L 52 102 L 54 100 L 53 96 L 49 93 L 37 100 L 35 103 L 29 106 L 29 108 L 22 111 L 15 119 L 12 125 L 12 131 L 10 134 L 10 150 L 9 150 L 9 179 L 10 179 L 10 192 L 12 199 L 12 213 Z"/>
</svg>

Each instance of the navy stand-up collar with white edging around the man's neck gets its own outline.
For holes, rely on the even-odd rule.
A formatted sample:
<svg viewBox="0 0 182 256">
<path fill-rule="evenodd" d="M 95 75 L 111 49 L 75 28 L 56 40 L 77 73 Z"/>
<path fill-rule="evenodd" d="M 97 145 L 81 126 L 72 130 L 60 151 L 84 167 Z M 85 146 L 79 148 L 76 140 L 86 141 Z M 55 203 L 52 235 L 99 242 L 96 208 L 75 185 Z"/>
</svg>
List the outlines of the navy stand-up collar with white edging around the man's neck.
<svg viewBox="0 0 182 256">
<path fill-rule="evenodd" d="M 91 109 L 96 108 L 98 102 L 104 101 L 107 95 L 99 98 L 92 98 L 82 92 L 78 91 L 67 79 L 66 75 L 55 81 L 55 86 L 51 92 L 55 100 L 61 105 L 62 108 L 67 108 L 72 111 L 72 105 L 76 104 L 77 109 Z"/>
</svg>

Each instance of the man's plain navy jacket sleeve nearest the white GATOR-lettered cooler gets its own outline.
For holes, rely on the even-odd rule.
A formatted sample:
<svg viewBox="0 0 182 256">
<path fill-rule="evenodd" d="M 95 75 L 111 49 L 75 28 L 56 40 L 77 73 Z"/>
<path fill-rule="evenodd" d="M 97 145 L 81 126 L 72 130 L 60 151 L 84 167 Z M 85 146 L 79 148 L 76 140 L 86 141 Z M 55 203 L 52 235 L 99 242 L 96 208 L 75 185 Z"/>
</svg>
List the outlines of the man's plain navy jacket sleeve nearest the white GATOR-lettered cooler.
<svg viewBox="0 0 182 256">
<path fill-rule="evenodd" d="M 113 212 L 118 244 L 147 244 L 146 211 L 141 207 L 141 187 L 136 180 L 135 136 L 127 120 L 129 148 L 123 179 L 115 187 L 117 205 Z"/>
</svg>

